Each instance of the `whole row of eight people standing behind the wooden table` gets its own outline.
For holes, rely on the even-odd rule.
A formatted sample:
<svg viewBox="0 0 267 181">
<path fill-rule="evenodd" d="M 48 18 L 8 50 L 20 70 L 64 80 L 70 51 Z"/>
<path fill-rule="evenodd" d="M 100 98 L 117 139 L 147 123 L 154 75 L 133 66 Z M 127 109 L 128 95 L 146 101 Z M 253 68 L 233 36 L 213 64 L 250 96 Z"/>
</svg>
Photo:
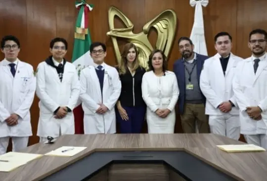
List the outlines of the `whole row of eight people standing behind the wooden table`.
<svg viewBox="0 0 267 181">
<path fill-rule="evenodd" d="M 85 134 L 141 133 L 144 120 L 149 134 L 172 134 L 176 104 L 184 133 L 214 133 L 267 148 L 267 32 L 253 30 L 248 46 L 252 56 L 243 59 L 231 52 L 227 32 L 215 36 L 217 54 L 208 57 L 194 52 L 187 37 L 178 40 L 181 59 L 168 70 L 167 57 L 155 49 L 148 70 L 139 64 L 133 43 L 123 47 L 115 67 L 104 62 L 106 45 L 90 45 L 92 65 L 78 76 L 74 64 L 64 56 L 67 41 L 50 42 L 51 55 L 37 70 L 18 59 L 19 40 L 5 36 L 0 62 L 0 154 L 9 138 L 13 151 L 28 144 L 32 136 L 30 108 L 34 95 L 40 99 L 37 136 L 74 133 L 73 109 L 78 100 L 84 110 Z"/>
</svg>

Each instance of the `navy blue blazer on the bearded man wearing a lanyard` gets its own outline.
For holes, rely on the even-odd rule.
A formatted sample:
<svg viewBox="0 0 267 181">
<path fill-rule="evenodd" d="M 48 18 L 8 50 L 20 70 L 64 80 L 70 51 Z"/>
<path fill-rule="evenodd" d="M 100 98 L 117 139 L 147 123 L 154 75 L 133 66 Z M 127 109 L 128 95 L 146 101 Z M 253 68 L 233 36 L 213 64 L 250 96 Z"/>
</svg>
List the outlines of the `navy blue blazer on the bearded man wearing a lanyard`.
<svg viewBox="0 0 267 181">
<path fill-rule="evenodd" d="M 209 58 L 208 56 L 196 53 L 196 61 L 197 61 L 196 68 L 197 68 L 198 84 L 199 84 L 200 73 L 201 73 L 204 61 L 208 58 Z M 182 59 L 178 59 L 175 61 L 173 71 L 177 77 L 178 87 L 179 87 L 179 99 L 178 99 L 179 114 L 183 114 L 184 101 L 185 101 L 185 71 L 184 71 L 184 64 L 183 64 Z M 206 103 L 206 97 L 203 94 L 202 94 L 202 100 L 204 103 Z"/>
</svg>

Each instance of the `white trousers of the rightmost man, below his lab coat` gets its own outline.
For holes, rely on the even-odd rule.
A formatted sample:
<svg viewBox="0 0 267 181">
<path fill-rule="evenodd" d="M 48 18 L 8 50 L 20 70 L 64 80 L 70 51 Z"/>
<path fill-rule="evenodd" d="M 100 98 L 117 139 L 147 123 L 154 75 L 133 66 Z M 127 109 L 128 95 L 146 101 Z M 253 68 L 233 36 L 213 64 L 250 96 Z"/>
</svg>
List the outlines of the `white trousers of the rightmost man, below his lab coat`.
<svg viewBox="0 0 267 181">
<path fill-rule="evenodd" d="M 267 135 L 244 135 L 248 144 L 255 144 L 267 149 Z"/>
</svg>

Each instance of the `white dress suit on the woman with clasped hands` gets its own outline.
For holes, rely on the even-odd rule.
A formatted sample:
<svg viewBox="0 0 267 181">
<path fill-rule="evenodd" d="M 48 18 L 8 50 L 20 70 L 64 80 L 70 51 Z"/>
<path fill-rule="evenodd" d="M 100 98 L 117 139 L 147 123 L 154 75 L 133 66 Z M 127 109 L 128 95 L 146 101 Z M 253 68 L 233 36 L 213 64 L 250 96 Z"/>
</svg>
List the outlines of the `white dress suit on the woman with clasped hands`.
<svg viewBox="0 0 267 181">
<path fill-rule="evenodd" d="M 178 101 L 179 89 L 176 75 L 166 71 L 158 77 L 153 71 L 146 72 L 142 79 L 142 97 L 147 105 L 146 121 L 148 133 L 174 133 L 176 114 L 175 105 Z M 157 109 L 168 108 L 171 113 L 166 118 L 159 117 Z"/>
</svg>

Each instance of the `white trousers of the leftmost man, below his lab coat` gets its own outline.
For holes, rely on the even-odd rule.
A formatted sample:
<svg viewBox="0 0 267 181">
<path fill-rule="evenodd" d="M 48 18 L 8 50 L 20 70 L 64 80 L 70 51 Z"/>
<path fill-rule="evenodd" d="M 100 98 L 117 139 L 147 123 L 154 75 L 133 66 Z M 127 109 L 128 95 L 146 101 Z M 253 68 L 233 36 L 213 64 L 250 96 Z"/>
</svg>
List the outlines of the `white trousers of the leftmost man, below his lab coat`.
<svg viewBox="0 0 267 181">
<path fill-rule="evenodd" d="M 10 137 L 0 137 L 0 155 L 6 153 Z M 11 137 L 12 151 L 18 152 L 28 146 L 29 136 L 27 137 Z"/>
</svg>

